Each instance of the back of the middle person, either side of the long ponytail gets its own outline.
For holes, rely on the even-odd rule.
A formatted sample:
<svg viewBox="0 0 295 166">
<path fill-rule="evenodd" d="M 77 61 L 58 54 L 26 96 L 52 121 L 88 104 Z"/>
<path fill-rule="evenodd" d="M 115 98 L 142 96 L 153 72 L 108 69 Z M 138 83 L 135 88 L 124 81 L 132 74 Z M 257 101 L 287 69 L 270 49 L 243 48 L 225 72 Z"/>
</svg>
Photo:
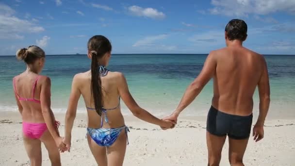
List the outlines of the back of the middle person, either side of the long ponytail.
<svg viewBox="0 0 295 166">
<path fill-rule="evenodd" d="M 118 128 L 122 127 L 124 123 L 124 118 L 121 114 L 120 108 L 120 96 L 118 92 L 118 72 L 108 72 L 104 77 L 100 77 L 102 94 L 103 94 L 103 108 L 112 109 L 108 110 L 106 115 L 108 117 L 108 123 L 103 120 L 103 128 Z M 83 96 L 85 106 L 89 108 L 95 108 L 94 99 L 91 96 L 91 71 L 85 73 L 80 73 L 75 76 L 81 94 Z M 101 116 L 93 109 L 87 109 L 88 113 L 88 127 L 89 128 L 100 128 Z M 102 113 L 104 118 L 104 113 Z"/>
</svg>

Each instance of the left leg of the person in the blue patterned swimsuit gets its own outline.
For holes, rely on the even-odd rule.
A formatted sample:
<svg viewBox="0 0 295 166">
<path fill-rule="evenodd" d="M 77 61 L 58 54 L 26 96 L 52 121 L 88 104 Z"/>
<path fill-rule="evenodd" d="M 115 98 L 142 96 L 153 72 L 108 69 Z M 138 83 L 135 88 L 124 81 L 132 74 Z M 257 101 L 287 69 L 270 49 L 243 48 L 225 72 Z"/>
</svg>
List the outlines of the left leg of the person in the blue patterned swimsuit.
<svg viewBox="0 0 295 166">
<path fill-rule="evenodd" d="M 105 147 L 99 146 L 92 138 L 87 134 L 88 145 L 94 156 L 98 166 L 108 166 L 107 152 Z"/>
</svg>

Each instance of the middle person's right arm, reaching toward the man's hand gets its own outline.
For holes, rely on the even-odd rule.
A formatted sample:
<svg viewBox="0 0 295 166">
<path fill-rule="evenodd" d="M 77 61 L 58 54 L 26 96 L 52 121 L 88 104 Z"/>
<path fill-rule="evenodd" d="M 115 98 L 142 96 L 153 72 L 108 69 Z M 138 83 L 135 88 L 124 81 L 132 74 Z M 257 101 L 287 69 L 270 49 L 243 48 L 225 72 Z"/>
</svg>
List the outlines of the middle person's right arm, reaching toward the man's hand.
<svg viewBox="0 0 295 166">
<path fill-rule="evenodd" d="M 148 111 L 144 110 L 136 103 L 136 101 L 133 99 L 129 92 L 127 81 L 122 73 L 119 74 L 118 92 L 120 97 L 125 102 L 125 104 L 134 116 L 148 123 L 159 125 L 164 128 L 171 128 L 173 126 L 171 122 L 161 120 L 151 115 Z"/>
</svg>

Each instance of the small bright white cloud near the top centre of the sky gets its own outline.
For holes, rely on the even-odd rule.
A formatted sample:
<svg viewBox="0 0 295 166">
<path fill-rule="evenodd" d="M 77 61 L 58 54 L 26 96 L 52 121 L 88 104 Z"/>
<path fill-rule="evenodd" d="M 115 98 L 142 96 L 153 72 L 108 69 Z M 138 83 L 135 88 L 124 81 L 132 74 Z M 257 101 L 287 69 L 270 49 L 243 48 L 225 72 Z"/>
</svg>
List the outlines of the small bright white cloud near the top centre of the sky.
<svg viewBox="0 0 295 166">
<path fill-rule="evenodd" d="M 157 9 L 153 8 L 142 8 L 139 6 L 130 6 L 128 11 L 135 16 L 138 17 L 149 17 L 153 19 L 163 19 L 165 18 L 165 14 L 163 12 L 158 11 Z"/>
</svg>

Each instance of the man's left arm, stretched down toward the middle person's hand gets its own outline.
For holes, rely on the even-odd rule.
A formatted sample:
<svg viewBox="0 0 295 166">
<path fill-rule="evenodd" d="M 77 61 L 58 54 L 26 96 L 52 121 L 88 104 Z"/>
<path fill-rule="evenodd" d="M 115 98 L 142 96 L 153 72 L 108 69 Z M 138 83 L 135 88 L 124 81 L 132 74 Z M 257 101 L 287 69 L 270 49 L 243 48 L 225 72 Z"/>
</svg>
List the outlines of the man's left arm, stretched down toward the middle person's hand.
<svg viewBox="0 0 295 166">
<path fill-rule="evenodd" d="M 201 92 L 203 87 L 210 81 L 210 79 L 215 74 L 216 65 L 217 61 L 214 55 L 214 51 L 212 51 L 208 55 L 200 74 L 193 81 L 193 83 L 191 83 L 187 87 L 182 99 L 180 100 L 178 107 L 174 112 L 176 116 L 179 116 L 180 112 L 184 110 L 191 102 L 193 102 L 193 100 L 196 99 L 197 95 Z"/>
</svg>

